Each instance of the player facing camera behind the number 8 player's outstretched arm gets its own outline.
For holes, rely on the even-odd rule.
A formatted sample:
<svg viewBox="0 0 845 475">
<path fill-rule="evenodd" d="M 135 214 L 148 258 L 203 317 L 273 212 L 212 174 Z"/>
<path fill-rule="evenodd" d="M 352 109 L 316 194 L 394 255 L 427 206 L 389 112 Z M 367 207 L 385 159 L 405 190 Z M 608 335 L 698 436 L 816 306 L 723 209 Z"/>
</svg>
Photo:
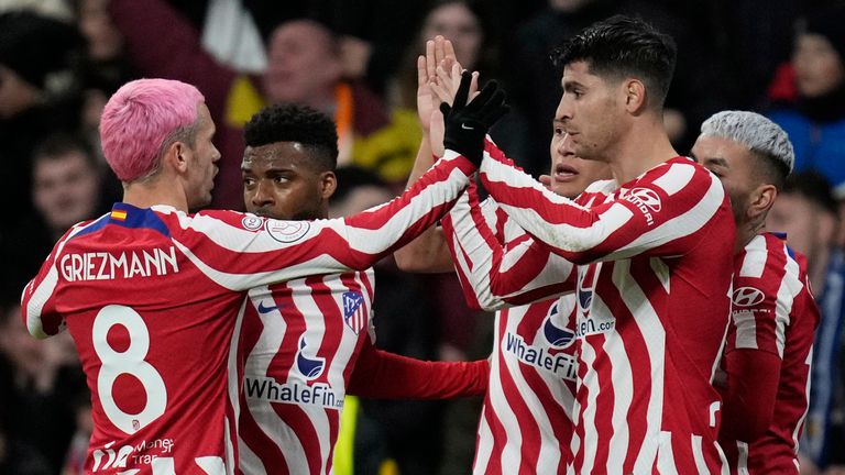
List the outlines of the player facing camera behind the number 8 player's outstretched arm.
<svg viewBox="0 0 845 475">
<path fill-rule="evenodd" d="M 306 107 L 267 107 L 246 123 L 244 137 L 249 212 L 285 220 L 328 217 L 338 158 L 331 119 Z M 432 363 L 376 350 L 374 290 L 372 268 L 250 290 L 241 329 L 243 473 L 330 473 L 345 393 L 371 398 L 484 393 L 486 360 Z"/>
</svg>

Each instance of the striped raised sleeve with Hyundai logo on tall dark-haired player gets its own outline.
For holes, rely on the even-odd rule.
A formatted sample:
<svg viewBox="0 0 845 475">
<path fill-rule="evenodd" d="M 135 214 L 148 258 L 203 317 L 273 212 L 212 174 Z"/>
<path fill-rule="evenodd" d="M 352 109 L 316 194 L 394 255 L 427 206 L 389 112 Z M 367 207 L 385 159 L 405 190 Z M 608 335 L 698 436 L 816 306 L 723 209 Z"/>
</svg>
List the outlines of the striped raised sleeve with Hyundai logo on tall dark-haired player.
<svg viewBox="0 0 845 475">
<path fill-rule="evenodd" d="M 616 191 L 613 200 L 591 208 L 549 191 L 491 143 L 481 180 L 520 228 L 575 264 L 635 255 L 679 256 L 703 239 L 734 239 L 731 205 L 721 181 L 684 157 L 646 172 Z"/>
</svg>

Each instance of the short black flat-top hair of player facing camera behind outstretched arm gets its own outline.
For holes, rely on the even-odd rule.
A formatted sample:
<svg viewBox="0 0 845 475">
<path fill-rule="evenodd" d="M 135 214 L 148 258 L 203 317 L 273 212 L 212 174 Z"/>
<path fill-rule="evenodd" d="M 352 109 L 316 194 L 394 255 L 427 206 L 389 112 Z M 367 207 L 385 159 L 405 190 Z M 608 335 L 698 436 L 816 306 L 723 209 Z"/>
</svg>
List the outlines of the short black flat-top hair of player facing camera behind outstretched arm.
<svg viewBox="0 0 845 475">
<path fill-rule="evenodd" d="M 312 152 L 315 165 L 327 170 L 338 166 L 338 131 L 328 115 L 294 103 L 267 106 L 243 129 L 248 146 L 297 142 Z"/>
</svg>

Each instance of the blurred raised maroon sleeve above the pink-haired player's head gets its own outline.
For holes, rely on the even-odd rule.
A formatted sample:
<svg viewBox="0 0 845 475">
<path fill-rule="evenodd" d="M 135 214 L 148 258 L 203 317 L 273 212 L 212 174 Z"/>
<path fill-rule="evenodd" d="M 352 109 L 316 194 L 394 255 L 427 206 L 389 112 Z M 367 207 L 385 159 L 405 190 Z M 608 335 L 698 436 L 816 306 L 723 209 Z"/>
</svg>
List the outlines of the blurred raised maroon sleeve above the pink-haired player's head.
<svg viewBox="0 0 845 475">
<path fill-rule="evenodd" d="M 206 97 L 222 118 L 235 71 L 202 48 L 199 32 L 163 0 L 111 0 L 109 12 L 132 63 L 147 77 L 178 79 Z"/>
</svg>

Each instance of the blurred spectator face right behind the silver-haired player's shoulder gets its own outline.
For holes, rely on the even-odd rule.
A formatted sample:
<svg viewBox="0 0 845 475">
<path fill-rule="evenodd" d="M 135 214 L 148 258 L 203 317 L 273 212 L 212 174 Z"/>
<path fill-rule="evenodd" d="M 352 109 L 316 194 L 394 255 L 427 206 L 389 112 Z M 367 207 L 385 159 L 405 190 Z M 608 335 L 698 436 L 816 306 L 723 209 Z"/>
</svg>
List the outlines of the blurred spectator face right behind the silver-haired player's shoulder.
<svg viewBox="0 0 845 475">
<path fill-rule="evenodd" d="M 835 218 L 801 194 L 781 194 L 766 218 L 766 229 L 787 233 L 789 246 L 808 257 L 831 244 Z"/>
</svg>

